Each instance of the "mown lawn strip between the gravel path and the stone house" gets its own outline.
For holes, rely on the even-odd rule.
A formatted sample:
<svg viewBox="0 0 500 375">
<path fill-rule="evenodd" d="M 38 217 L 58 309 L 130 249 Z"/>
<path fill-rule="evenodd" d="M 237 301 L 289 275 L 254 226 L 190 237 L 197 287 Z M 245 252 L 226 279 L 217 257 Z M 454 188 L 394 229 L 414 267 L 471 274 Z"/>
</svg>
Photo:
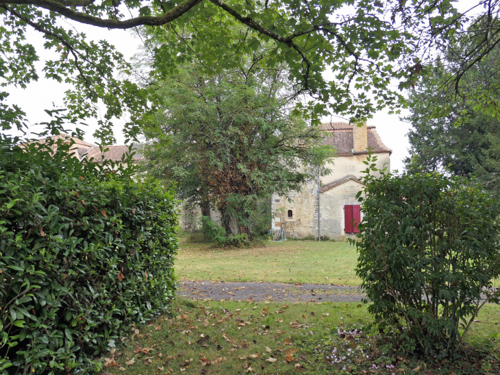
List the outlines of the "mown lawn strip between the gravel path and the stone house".
<svg viewBox="0 0 500 375">
<path fill-rule="evenodd" d="M 218 248 L 181 236 L 175 273 L 183 280 L 302 282 L 360 285 L 358 254 L 346 242 L 262 242 L 261 247 Z"/>
</svg>

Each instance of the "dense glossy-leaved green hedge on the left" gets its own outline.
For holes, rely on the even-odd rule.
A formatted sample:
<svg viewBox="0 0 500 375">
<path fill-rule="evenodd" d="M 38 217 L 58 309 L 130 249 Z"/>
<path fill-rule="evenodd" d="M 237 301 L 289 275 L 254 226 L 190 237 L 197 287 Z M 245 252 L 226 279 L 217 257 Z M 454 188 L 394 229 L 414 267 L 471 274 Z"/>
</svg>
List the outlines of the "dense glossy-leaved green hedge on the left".
<svg viewBox="0 0 500 375">
<path fill-rule="evenodd" d="M 92 357 L 173 297 L 173 193 L 1 141 L 0 374 L 99 371 Z"/>
</svg>

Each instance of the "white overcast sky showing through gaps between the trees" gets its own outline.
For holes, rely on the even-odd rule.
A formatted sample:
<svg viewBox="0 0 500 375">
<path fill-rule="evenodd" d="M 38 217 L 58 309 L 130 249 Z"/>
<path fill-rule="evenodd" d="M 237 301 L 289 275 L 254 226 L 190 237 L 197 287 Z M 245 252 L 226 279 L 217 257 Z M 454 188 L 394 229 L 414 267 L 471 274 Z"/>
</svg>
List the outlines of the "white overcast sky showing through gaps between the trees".
<svg viewBox="0 0 500 375">
<path fill-rule="evenodd" d="M 471 0 L 460 0 L 458 1 L 459 10 L 465 10 L 470 8 L 472 3 L 477 3 Z M 105 39 L 108 40 L 112 45 L 121 51 L 126 58 L 131 58 L 138 51 L 140 45 L 140 39 L 131 31 L 125 30 L 108 30 L 99 29 L 97 27 L 89 27 L 87 25 L 79 25 L 73 23 L 75 28 L 79 32 L 85 32 L 88 38 L 94 40 Z M 30 31 L 28 34 L 30 40 L 38 40 L 36 45 L 42 46 L 42 38 L 39 33 Z M 40 48 L 38 49 L 40 53 L 40 63 L 38 64 L 40 80 L 38 82 L 33 82 L 29 84 L 26 89 L 8 87 L 7 91 L 10 93 L 8 97 L 8 102 L 21 105 L 21 108 L 27 113 L 27 118 L 32 124 L 32 129 L 34 132 L 41 130 L 40 126 L 36 126 L 37 123 L 47 121 L 49 116 L 45 113 L 45 109 L 53 108 L 53 106 L 62 107 L 62 99 L 64 97 L 64 91 L 68 88 L 65 84 L 58 84 L 53 80 L 46 80 L 43 78 L 43 73 L 41 68 L 43 62 L 49 59 L 49 54 L 44 53 Z M 405 113 L 403 113 L 405 114 Z M 408 123 L 403 123 L 399 120 L 400 115 L 388 114 L 387 111 L 377 112 L 373 119 L 368 120 L 368 125 L 375 125 L 377 131 L 382 138 L 382 141 L 392 149 L 392 155 L 390 157 L 390 167 L 392 170 L 399 169 L 403 170 L 403 159 L 408 156 L 408 137 L 406 134 L 410 129 Z M 329 121 L 329 118 L 325 121 Z M 338 121 L 338 119 L 337 119 Z M 90 142 L 95 142 L 92 137 L 92 133 L 95 131 L 95 124 L 92 125 L 91 121 L 88 121 L 89 126 L 86 129 L 86 140 Z M 125 123 L 125 120 L 117 121 L 114 128 L 114 134 L 118 144 L 123 144 L 125 137 L 123 136 L 121 129 Z"/>
</svg>

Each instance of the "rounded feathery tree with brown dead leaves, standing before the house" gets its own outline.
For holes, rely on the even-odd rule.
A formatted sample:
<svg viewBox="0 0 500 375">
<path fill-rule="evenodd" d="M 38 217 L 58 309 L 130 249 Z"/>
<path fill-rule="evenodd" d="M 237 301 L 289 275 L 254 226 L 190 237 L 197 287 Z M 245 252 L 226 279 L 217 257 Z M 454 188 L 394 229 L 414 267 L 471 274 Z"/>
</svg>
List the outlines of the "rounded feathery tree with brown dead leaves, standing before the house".
<svg viewBox="0 0 500 375">
<path fill-rule="evenodd" d="M 333 154 L 317 127 L 291 114 L 295 95 L 286 70 L 262 69 L 258 56 L 246 69 L 212 76 L 188 64 L 155 92 L 162 110 L 155 128 L 146 129 L 146 169 L 176 182 L 181 199 L 214 204 L 226 236 L 249 239 L 259 202 L 301 189 L 312 178 L 308 167 L 322 167 Z"/>
</svg>

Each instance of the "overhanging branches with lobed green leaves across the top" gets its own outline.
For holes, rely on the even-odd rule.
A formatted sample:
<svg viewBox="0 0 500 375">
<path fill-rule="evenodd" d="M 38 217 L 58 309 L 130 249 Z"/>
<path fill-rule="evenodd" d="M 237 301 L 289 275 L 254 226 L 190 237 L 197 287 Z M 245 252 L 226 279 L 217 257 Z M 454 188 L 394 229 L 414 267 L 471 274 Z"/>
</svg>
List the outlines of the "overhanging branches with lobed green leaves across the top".
<svg viewBox="0 0 500 375">
<path fill-rule="evenodd" d="M 489 5 L 486 12 L 496 19 L 495 2 L 479 4 Z M 45 63 L 45 75 L 73 85 L 66 95 L 68 120 L 100 119 L 96 104 L 103 101 L 106 110 L 98 135 L 106 141 L 112 141 L 114 117 L 129 112 L 125 132 L 135 136 L 142 124 L 139 114 L 155 108 L 150 108 L 146 93 L 134 80 L 116 77 L 116 71 L 130 69 L 121 53 L 104 40 L 88 42 L 67 20 L 108 29 L 153 29 L 164 38 L 164 45 L 153 51 L 155 73 L 161 74 L 175 71 L 178 64 L 192 58 L 218 73 L 222 56 L 273 43 L 266 64 L 273 67 L 286 62 L 295 85 L 313 98 L 297 110 L 316 120 L 328 110 L 363 119 L 379 108 L 397 106 L 402 97 L 391 89 L 392 78 L 403 86 L 412 84 L 423 71 L 425 51 L 460 31 L 466 21 L 451 0 L 154 0 L 147 4 L 136 0 L 0 0 L 0 18 L 3 83 L 25 86 L 38 79 L 34 63 L 40 56 L 25 40 L 27 28 L 35 29 L 44 36 L 45 48 L 60 56 Z M 243 27 L 242 32 L 232 33 L 234 25 Z M 482 45 L 495 40 L 497 34 L 492 33 Z M 334 80 L 323 75 L 327 67 Z M 0 99 L 6 95 L 1 93 Z M 0 106 L 2 128 L 22 128 L 22 109 L 1 101 Z"/>
</svg>

